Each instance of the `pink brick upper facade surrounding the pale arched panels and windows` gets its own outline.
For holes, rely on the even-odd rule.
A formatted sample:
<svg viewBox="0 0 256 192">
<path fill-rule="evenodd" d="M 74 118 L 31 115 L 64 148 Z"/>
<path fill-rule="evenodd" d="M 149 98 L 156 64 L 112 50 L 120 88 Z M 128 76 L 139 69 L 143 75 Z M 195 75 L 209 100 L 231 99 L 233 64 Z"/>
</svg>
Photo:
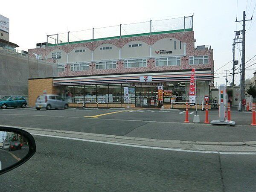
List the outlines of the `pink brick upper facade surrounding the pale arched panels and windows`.
<svg viewBox="0 0 256 192">
<path fill-rule="evenodd" d="M 147 67 L 135 67 L 135 68 L 124 68 L 124 61 L 117 61 L 115 69 L 104 69 L 104 70 L 96 70 L 95 62 L 91 62 L 89 66 L 89 70 L 84 71 L 71 71 L 70 64 L 65 64 L 65 71 L 59 72 L 58 76 L 84 76 L 84 75 L 105 75 L 105 74 L 117 74 L 117 73 L 137 73 L 137 72 L 150 72 L 150 71 L 168 71 L 168 70 L 186 70 L 191 68 L 196 69 L 211 69 L 214 70 L 214 61 L 213 61 L 213 50 L 212 49 L 204 49 L 204 50 L 195 50 L 195 41 L 194 41 L 194 31 L 189 32 L 177 32 L 177 33 L 168 33 L 168 34 L 160 34 L 160 35 L 151 35 L 151 36 L 137 36 L 130 38 L 121 38 L 119 39 L 111 39 L 111 40 L 103 40 L 103 41 L 93 41 L 93 42 L 85 42 L 78 44 L 68 44 L 68 45 L 60 45 L 54 47 L 46 47 L 46 48 L 37 48 L 37 49 L 29 49 L 29 56 L 33 57 L 32 53 L 41 54 L 42 58 L 45 58 L 49 52 L 55 49 L 61 49 L 66 53 L 69 53 L 76 47 L 87 47 L 91 51 L 95 50 L 102 44 L 113 44 L 118 48 L 122 48 L 125 44 L 131 41 L 143 41 L 149 46 L 153 45 L 160 39 L 163 38 L 175 38 L 186 44 L 186 56 L 180 57 L 180 65 L 176 66 L 164 66 L 164 67 L 156 67 L 154 58 L 147 58 Z M 189 56 L 201 56 L 208 55 L 208 64 L 199 64 L 199 65 L 189 65 Z"/>
</svg>

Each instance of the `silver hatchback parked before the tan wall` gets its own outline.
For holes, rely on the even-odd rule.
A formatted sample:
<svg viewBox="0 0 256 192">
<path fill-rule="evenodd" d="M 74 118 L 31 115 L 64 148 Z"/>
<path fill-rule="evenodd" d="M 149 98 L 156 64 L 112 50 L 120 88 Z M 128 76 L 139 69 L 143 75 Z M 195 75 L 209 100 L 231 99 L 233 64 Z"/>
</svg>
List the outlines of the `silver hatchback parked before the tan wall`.
<svg viewBox="0 0 256 192">
<path fill-rule="evenodd" d="M 46 108 L 46 110 L 50 110 L 51 108 L 67 109 L 68 103 L 58 95 L 41 95 L 36 99 L 35 108 L 37 110 L 40 110 L 41 108 Z"/>
</svg>

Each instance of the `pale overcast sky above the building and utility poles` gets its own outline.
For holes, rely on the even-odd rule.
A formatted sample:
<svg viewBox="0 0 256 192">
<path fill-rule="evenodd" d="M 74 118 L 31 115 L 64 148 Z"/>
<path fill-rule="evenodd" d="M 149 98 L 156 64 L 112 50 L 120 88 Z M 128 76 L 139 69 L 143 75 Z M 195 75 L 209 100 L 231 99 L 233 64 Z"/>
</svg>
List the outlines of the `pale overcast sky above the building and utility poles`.
<svg viewBox="0 0 256 192">
<path fill-rule="evenodd" d="M 225 70 L 229 70 L 227 79 L 232 81 L 229 75 L 234 31 L 242 29 L 241 23 L 235 21 L 236 17 L 241 20 L 246 11 L 246 19 L 252 14 L 255 17 L 246 22 L 245 61 L 256 55 L 256 0 L 23 0 L 4 4 L 0 15 L 10 19 L 10 41 L 18 44 L 19 50 L 35 48 L 36 43 L 46 42 L 49 34 L 194 15 L 195 46 L 211 45 L 215 84 L 221 84 L 225 82 Z M 235 52 L 240 63 L 239 49 L 241 44 L 237 44 Z M 256 57 L 248 61 L 246 67 L 254 64 L 254 59 Z M 254 71 L 256 64 L 246 69 L 246 79 L 252 78 Z M 239 79 L 237 74 L 237 85 Z"/>
</svg>

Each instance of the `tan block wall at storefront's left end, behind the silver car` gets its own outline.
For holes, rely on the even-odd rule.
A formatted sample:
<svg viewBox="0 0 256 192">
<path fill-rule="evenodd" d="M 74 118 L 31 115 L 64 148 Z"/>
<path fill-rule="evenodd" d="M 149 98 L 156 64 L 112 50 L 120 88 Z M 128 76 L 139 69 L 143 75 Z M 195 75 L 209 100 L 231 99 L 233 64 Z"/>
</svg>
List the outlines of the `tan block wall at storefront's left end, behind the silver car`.
<svg viewBox="0 0 256 192">
<path fill-rule="evenodd" d="M 48 79 L 29 79 L 29 106 L 35 106 L 35 100 L 39 95 L 57 94 L 58 87 L 53 87 L 52 78 Z"/>
</svg>

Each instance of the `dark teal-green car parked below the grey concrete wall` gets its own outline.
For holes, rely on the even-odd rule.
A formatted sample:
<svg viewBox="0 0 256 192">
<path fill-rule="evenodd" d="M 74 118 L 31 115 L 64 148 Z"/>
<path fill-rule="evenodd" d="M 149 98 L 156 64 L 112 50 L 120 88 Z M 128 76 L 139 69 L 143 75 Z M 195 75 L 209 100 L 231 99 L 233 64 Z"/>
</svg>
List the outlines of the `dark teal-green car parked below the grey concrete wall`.
<svg viewBox="0 0 256 192">
<path fill-rule="evenodd" d="M 6 109 L 9 107 L 22 107 L 26 108 L 27 102 L 26 99 L 22 96 L 5 96 L 0 99 L 0 107 Z"/>
</svg>

